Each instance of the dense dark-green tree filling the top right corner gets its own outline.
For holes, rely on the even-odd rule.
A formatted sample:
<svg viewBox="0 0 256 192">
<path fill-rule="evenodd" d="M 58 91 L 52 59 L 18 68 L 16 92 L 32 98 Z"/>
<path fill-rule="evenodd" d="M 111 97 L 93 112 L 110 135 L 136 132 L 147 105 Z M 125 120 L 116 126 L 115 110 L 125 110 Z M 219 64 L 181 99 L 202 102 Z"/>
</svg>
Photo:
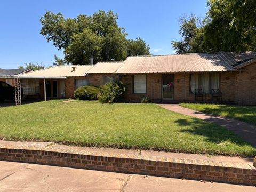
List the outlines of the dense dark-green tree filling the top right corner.
<svg viewBox="0 0 256 192">
<path fill-rule="evenodd" d="M 256 50 L 256 1 L 209 0 L 205 42 L 209 51 Z"/>
</svg>

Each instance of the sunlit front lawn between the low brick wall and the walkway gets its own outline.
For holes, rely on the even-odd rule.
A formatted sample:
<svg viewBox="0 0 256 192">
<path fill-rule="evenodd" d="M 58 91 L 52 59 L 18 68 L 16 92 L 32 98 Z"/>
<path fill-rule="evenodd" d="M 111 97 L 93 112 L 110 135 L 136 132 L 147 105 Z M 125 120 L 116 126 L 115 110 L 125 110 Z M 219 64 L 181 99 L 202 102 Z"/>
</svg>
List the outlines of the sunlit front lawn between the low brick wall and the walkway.
<svg viewBox="0 0 256 192">
<path fill-rule="evenodd" d="M 252 157 L 229 130 L 155 104 L 43 101 L 0 108 L 0 138 Z"/>
</svg>

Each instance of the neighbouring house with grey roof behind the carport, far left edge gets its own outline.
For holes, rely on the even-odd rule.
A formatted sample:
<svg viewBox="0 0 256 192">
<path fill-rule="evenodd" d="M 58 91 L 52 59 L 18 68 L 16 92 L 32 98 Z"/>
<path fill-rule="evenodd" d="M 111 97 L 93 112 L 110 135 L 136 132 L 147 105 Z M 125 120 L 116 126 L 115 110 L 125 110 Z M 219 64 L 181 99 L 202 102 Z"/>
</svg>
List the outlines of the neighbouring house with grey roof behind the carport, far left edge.
<svg viewBox="0 0 256 192">
<path fill-rule="evenodd" d="M 14 86 L 14 75 L 20 75 L 33 71 L 31 69 L 1 69 L 0 68 L 0 81 L 6 82 L 9 85 Z"/>
</svg>

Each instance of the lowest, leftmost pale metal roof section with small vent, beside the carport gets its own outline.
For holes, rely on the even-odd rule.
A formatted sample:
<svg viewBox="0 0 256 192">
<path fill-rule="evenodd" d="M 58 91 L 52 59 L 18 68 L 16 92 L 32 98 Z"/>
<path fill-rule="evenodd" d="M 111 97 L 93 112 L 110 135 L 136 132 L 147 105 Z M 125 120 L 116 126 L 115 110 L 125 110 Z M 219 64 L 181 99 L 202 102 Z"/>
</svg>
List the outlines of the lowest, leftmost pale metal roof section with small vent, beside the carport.
<svg viewBox="0 0 256 192">
<path fill-rule="evenodd" d="M 40 69 L 32 72 L 28 72 L 26 74 L 20 75 L 20 77 L 79 77 L 85 76 L 86 73 L 93 67 L 94 65 L 81 65 L 81 66 L 57 66 L 57 67 L 49 67 L 45 69 Z M 75 67 L 75 71 L 73 71 L 73 67 Z"/>
</svg>

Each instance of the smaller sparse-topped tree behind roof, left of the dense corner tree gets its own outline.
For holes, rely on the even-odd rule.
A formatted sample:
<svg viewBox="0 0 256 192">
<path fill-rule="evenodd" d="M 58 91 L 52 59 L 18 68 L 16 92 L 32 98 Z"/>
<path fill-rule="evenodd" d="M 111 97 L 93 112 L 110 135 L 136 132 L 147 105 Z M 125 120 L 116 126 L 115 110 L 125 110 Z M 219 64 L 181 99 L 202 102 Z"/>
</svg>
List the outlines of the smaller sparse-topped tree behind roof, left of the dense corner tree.
<svg viewBox="0 0 256 192">
<path fill-rule="evenodd" d="M 194 14 L 183 15 L 179 19 L 181 41 L 172 41 L 172 47 L 176 53 L 204 52 L 204 21 Z"/>
</svg>

